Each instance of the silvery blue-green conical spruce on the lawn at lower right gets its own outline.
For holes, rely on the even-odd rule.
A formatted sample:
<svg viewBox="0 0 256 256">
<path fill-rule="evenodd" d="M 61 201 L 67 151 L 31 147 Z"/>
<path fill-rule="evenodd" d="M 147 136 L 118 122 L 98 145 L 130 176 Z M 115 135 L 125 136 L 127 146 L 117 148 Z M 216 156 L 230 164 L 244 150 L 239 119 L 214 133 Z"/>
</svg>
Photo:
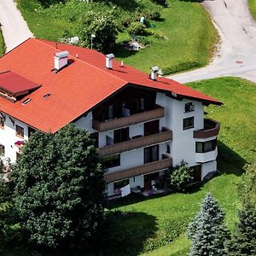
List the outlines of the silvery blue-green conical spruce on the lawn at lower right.
<svg viewBox="0 0 256 256">
<path fill-rule="evenodd" d="M 224 212 L 210 193 L 201 204 L 201 210 L 189 224 L 192 241 L 190 256 L 226 255 L 225 241 L 229 232 L 224 225 Z"/>
</svg>

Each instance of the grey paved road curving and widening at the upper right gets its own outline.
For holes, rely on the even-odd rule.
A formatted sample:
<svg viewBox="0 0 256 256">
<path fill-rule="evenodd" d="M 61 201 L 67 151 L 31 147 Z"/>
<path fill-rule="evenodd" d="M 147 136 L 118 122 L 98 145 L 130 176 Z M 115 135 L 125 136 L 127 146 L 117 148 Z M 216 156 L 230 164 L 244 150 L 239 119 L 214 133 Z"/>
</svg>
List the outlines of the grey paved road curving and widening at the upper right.
<svg viewBox="0 0 256 256">
<path fill-rule="evenodd" d="M 256 22 L 247 0 L 204 1 L 218 29 L 220 49 L 207 67 L 168 78 L 186 83 L 221 76 L 239 76 L 256 82 Z"/>
</svg>

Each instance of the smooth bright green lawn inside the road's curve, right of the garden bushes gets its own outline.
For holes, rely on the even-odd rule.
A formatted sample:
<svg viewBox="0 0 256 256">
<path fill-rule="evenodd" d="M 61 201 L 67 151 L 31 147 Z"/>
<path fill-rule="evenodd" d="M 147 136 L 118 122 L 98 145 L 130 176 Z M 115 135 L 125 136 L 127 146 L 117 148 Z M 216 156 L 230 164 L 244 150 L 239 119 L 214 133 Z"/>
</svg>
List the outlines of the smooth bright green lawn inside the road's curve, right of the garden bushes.
<svg viewBox="0 0 256 256">
<path fill-rule="evenodd" d="M 204 66 L 212 54 L 216 32 L 211 20 L 199 3 L 172 2 L 162 9 L 164 22 L 154 22 L 153 31 L 166 35 L 168 40 L 153 38 L 153 44 L 136 55 L 118 56 L 132 67 L 148 72 L 149 67 L 172 67 L 179 63 L 197 61 Z"/>
</svg>

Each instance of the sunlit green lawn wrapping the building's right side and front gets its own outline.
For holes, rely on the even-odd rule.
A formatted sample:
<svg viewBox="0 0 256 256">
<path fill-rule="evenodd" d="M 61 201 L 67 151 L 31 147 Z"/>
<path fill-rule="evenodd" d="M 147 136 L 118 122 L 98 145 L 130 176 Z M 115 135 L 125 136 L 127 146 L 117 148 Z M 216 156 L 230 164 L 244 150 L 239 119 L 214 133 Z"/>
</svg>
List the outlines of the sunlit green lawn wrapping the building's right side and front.
<svg viewBox="0 0 256 256">
<path fill-rule="evenodd" d="M 226 212 L 228 228 L 234 230 L 239 207 L 236 185 L 241 179 L 242 167 L 256 158 L 256 85 L 242 79 L 220 78 L 189 86 L 224 102 L 223 107 L 206 109 L 207 118 L 221 123 L 218 170 L 223 174 L 187 194 L 143 201 L 131 197 L 110 207 L 128 212 L 123 220 L 124 230 L 130 230 L 133 235 L 129 249 L 122 249 L 123 255 L 186 255 L 189 251 L 185 236 L 187 225 L 208 191 Z"/>
</svg>

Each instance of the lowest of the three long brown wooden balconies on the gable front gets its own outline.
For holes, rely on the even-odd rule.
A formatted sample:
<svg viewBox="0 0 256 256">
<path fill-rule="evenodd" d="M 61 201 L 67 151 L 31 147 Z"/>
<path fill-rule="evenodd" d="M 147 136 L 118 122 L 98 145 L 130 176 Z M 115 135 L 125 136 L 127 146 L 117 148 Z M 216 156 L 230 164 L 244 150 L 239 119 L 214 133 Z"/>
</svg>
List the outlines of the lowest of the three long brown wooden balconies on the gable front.
<svg viewBox="0 0 256 256">
<path fill-rule="evenodd" d="M 151 172 L 159 172 L 169 168 L 170 166 L 172 166 L 172 158 L 164 154 L 162 160 L 154 161 L 148 164 L 144 164 L 143 166 L 137 166 L 118 172 L 107 173 L 105 174 L 105 181 L 106 183 L 111 183 L 129 177 L 135 177 Z"/>
</svg>

